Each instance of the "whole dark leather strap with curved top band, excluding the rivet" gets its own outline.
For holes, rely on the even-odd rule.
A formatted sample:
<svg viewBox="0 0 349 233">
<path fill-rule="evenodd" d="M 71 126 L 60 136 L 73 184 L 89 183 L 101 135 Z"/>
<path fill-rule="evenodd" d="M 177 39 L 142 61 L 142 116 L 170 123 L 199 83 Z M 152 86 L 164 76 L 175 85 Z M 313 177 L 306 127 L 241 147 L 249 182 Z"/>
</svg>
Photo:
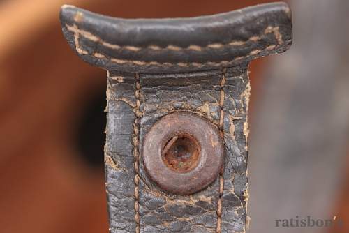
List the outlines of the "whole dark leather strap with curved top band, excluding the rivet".
<svg viewBox="0 0 349 233">
<path fill-rule="evenodd" d="M 64 6 L 61 24 L 70 47 L 107 70 L 110 232 L 246 232 L 248 63 L 290 47 L 290 8 L 124 20 Z M 204 117 L 224 144 L 221 174 L 191 195 L 163 190 L 144 169 L 144 136 L 172 112 Z"/>
</svg>

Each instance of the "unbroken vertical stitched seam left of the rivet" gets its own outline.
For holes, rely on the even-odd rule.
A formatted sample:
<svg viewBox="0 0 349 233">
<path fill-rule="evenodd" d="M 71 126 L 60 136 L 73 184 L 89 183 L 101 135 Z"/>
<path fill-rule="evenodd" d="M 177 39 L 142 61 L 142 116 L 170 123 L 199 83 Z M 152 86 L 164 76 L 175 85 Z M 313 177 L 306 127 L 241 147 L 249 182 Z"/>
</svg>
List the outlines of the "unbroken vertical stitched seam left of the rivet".
<svg viewBox="0 0 349 233">
<path fill-rule="evenodd" d="M 135 73 L 135 122 L 133 123 L 133 157 L 135 159 L 135 232 L 140 232 L 140 204 L 139 204 L 139 190 L 138 186 L 140 183 L 139 176 L 139 140 L 140 140 L 140 118 L 142 117 L 142 112 L 140 112 L 140 75 Z"/>
</svg>

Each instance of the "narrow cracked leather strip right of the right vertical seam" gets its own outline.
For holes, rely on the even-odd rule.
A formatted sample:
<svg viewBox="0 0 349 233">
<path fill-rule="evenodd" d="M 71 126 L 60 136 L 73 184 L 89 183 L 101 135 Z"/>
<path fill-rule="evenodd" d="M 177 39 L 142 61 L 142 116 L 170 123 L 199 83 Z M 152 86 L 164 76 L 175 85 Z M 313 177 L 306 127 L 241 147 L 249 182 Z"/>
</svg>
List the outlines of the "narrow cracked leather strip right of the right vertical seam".
<svg viewBox="0 0 349 233">
<path fill-rule="evenodd" d="M 246 232 L 248 64 L 228 68 L 223 87 L 225 141 L 221 232 Z"/>
</svg>

